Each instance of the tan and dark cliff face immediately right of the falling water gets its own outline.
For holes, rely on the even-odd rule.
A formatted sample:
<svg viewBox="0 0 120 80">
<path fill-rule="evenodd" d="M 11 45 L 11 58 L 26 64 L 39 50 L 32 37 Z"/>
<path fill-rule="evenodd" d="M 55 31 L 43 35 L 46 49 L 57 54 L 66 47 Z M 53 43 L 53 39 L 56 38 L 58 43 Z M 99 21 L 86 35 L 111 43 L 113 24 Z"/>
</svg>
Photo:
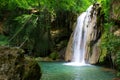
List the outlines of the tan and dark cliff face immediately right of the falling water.
<svg viewBox="0 0 120 80">
<path fill-rule="evenodd" d="M 99 4 L 94 4 L 91 15 L 92 15 L 91 21 L 88 26 L 89 31 L 87 34 L 85 60 L 90 64 L 96 64 L 100 57 L 99 45 L 100 45 L 100 38 L 103 31 L 103 19 L 104 19 L 104 16 L 101 13 L 101 6 Z"/>
</svg>

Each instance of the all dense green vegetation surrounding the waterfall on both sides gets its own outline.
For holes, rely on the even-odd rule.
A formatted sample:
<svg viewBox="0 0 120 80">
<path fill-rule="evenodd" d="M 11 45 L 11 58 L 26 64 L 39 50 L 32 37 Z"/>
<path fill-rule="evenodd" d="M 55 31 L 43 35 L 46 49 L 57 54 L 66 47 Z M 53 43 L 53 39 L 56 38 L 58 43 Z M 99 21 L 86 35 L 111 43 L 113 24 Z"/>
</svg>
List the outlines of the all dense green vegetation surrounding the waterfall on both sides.
<svg viewBox="0 0 120 80">
<path fill-rule="evenodd" d="M 0 45 L 21 47 L 32 56 L 55 54 L 66 46 L 76 16 L 94 2 L 101 3 L 105 18 L 100 62 L 115 55 L 112 64 L 120 71 L 120 36 L 114 35 L 120 18 L 110 18 L 113 0 L 0 0 Z M 57 35 L 64 28 L 64 36 Z"/>
</svg>

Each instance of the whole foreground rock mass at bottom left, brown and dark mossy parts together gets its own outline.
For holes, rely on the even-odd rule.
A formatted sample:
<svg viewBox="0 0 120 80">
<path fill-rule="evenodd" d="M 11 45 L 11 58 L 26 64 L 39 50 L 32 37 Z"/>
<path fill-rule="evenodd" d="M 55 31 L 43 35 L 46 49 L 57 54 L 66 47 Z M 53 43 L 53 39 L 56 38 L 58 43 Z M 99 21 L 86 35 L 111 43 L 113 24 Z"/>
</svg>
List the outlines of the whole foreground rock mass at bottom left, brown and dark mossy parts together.
<svg viewBox="0 0 120 80">
<path fill-rule="evenodd" d="M 40 79 L 39 65 L 37 62 L 26 60 L 23 53 L 19 48 L 0 47 L 0 80 Z M 25 78 L 26 73 L 28 77 Z"/>
</svg>

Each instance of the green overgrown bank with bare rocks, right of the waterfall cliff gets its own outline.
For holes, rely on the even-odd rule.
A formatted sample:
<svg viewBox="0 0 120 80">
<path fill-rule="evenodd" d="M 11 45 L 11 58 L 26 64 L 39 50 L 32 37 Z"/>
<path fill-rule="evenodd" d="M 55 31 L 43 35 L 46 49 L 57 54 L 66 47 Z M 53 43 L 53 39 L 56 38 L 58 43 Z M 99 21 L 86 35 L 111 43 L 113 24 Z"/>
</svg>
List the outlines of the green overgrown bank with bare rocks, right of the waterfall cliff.
<svg viewBox="0 0 120 80">
<path fill-rule="evenodd" d="M 117 5 L 119 3 L 119 0 L 106 0 L 102 4 L 105 20 L 104 31 L 101 37 L 100 57 L 100 62 L 107 62 L 118 71 L 120 71 L 120 35 L 117 33 L 120 25 L 120 6 Z M 118 76 L 120 76 L 120 73 L 118 73 Z"/>
</svg>

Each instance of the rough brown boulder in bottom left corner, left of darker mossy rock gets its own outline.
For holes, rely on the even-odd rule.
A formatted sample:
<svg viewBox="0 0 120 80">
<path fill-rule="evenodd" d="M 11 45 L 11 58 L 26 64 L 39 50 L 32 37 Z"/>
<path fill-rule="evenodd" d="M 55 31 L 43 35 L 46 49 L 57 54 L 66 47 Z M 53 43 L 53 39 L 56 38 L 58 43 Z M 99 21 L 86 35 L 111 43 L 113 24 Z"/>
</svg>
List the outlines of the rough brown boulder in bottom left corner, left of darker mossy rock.
<svg viewBox="0 0 120 80">
<path fill-rule="evenodd" d="M 3 80 L 21 80 L 24 73 L 22 53 L 18 48 L 0 47 L 0 76 Z"/>
</svg>

